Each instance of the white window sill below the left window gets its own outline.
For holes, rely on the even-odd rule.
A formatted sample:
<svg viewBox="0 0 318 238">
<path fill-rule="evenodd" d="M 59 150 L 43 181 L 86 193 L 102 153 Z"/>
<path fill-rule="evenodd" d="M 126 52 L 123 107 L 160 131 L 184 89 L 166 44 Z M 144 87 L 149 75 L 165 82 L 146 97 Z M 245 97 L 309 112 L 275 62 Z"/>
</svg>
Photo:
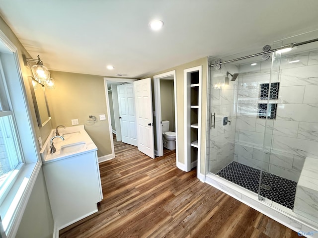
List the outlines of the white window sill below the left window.
<svg viewBox="0 0 318 238">
<path fill-rule="evenodd" d="M 7 238 L 15 237 L 41 166 L 41 162 L 24 165 L 0 206 L 2 227 Z"/>
</svg>

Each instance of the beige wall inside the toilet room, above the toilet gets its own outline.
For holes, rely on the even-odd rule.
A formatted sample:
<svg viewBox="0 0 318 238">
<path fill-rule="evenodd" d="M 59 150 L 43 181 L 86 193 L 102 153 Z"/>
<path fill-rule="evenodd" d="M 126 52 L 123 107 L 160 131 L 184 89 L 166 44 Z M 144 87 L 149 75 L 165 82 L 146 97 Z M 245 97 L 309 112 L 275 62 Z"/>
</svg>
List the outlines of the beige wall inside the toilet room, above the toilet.
<svg viewBox="0 0 318 238">
<path fill-rule="evenodd" d="M 173 80 L 160 79 L 161 120 L 168 120 L 169 131 L 175 131 Z"/>
</svg>

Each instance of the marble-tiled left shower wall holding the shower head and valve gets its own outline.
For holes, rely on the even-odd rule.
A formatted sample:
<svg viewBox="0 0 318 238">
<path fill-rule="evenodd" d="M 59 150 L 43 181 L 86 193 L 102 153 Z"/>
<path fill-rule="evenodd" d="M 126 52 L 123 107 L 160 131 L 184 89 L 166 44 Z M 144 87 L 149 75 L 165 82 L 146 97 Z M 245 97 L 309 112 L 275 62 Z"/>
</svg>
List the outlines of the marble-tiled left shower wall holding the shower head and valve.
<svg viewBox="0 0 318 238">
<path fill-rule="evenodd" d="M 237 95 L 237 81 L 230 81 L 229 85 L 223 85 L 226 72 L 232 74 L 239 68 L 234 64 L 222 65 L 220 70 L 211 68 L 209 75 L 208 98 L 210 99 L 208 112 L 215 113 L 215 128 L 208 126 L 209 143 L 207 144 L 207 158 L 209 158 L 209 172 L 217 173 L 234 158 L 236 108 L 234 102 Z M 221 86 L 220 88 L 217 88 Z M 228 117 L 231 125 L 223 125 L 223 118 Z M 211 125 L 211 117 L 207 119 Z M 213 118 L 212 118 L 213 124 Z"/>
</svg>

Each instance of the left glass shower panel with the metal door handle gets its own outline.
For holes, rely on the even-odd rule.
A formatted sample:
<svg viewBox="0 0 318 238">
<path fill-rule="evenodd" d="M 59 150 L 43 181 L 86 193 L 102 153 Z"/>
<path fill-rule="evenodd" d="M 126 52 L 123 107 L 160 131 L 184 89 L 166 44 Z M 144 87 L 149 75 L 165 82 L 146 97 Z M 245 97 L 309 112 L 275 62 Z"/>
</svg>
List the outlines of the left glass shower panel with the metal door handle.
<svg viewBox="0 0 318 238">
<path fill-rule="evenodd" d="M 261 171 L 268 172 L 269 165 L 265 145 L 271 134 L 265 126 L 272 123 L 272 111 L 267 111 L 270 69 L 271 61 L 258 56 L 212 67 L 209 75 L 209 172 L 256 194 Z"/>
</svg>

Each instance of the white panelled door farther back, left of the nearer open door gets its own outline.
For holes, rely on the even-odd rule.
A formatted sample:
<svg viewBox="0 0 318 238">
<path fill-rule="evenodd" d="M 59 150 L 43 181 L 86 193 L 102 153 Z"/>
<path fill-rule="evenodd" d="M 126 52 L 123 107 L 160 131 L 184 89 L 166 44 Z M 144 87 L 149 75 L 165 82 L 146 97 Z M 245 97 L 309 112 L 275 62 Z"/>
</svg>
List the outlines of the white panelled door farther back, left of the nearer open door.
<svg viewBox="0 0 318 238">
<path fill-rule="evenodd" d="M 122 142 L 137 146 L 134 84 L 117 86 Z"/>
</svg>

